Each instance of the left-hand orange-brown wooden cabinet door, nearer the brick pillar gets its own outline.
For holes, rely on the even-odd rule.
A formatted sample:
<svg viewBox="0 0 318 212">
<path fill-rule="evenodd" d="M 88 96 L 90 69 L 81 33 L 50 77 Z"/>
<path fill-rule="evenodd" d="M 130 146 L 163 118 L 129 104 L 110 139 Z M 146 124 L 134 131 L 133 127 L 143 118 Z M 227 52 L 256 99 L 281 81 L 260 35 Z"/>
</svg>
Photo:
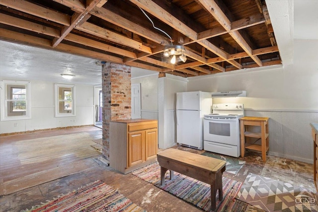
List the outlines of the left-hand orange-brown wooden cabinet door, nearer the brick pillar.
<svg viewBox="0 0 318 212">
<path fill-rule="evenodd" d="M 128 167 L 145 161 L 145 131 L 128 134 Z M 127 167 L 127 168 L 128 168 Z"/>
</svg>

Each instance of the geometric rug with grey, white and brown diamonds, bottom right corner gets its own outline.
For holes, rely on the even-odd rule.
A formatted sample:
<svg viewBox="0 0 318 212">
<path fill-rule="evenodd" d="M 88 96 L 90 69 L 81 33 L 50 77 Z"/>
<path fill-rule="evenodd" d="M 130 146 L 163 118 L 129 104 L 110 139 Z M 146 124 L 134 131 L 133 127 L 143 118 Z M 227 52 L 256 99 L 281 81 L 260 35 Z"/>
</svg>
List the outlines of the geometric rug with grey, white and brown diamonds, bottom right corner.
<svg viewBox="0 0 318 212">
<path fill-rule="evenodd" d="M 268 212 L 318 212 L 315 195 L 306 189 L 251 173 L 236 198 Z"/>
</svg>

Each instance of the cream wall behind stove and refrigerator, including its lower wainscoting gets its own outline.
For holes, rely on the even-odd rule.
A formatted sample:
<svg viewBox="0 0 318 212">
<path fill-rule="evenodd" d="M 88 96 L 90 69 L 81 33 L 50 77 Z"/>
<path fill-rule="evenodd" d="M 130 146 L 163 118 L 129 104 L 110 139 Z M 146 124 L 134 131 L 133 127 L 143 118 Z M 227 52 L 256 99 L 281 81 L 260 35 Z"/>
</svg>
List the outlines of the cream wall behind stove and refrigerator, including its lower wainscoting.
<svg viewBox="0 0 318 212">
<path fill-rule="evenodd" d="M 246 90 L 247 97 L 214 98 L 243 103 L 245 115 L 270 117 L 270 154 L 313 162 L 310 123 L 318 123 L 318 40 L 294 41 L 294 64 L 191 77 L 188 91 Z"/>
</svg>

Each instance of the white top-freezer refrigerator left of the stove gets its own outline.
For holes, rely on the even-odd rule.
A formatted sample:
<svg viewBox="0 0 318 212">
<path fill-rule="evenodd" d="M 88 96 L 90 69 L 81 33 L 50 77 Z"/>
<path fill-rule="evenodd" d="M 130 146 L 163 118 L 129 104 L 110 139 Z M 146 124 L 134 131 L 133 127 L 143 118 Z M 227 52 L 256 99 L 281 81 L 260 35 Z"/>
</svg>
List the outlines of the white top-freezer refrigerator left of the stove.
<svg viewBox="0 0 318 212">
<path fill-rule="evenodd" d="M 210 92 L 178 92 L 176 101 L 177 143 L 203 149 L 203 117 L 212 111 Z"/>
</svg>

